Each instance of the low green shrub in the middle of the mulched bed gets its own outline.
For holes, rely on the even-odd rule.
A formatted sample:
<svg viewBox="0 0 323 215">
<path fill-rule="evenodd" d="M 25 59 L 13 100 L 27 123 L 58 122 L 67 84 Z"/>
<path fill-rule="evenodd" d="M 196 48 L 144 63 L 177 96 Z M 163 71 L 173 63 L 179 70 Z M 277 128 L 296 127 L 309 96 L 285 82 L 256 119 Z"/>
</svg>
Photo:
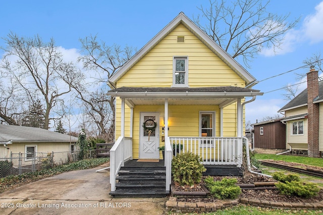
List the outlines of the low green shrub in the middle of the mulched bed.
<svg viewBox="0 0 323 215">
<path fill-rule="evenodd" d="M 212 177 L 207 177 L 204 182 L 210 193 L 219 199 L 235 199 L 241 193 L 241 188 L 236 185 L 236 178 L 223 178 L 221 181 L 214 181 Z"/>
</svg>

